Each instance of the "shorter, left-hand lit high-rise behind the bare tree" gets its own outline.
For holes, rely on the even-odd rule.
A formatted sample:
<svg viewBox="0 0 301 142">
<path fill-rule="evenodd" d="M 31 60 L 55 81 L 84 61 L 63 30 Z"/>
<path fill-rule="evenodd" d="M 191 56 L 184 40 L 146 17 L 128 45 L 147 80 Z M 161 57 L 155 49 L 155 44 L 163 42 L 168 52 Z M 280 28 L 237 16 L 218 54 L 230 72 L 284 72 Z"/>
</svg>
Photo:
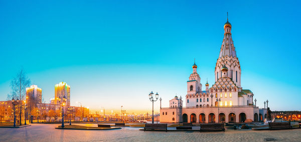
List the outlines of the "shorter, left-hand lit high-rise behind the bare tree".
<svg viewBox="0 0 301 142">
<path fill-rule="evenodd" d="M 35 103 L 42 103 L 42 89 L 37 85 L 31 85 L 26 88 L 26 98 L 29 101 L 36 101 Z"/>
</svg>

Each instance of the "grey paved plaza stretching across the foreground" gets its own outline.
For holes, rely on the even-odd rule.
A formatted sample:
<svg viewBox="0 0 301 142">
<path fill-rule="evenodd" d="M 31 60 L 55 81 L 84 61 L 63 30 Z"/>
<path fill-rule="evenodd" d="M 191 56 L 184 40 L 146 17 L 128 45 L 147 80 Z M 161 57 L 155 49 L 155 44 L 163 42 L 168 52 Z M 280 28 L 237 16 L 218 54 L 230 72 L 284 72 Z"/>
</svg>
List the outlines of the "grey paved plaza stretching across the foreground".
<svg viewBox="0 0 301 142">
<path fill-rule="evenodd" d="M 83 124 L 96 126 L 96 124 Z M 301 141 L 301 129 L 239 130 L 225 132 L 161 132 L 122 127 L 114 130 L 55 129 L 58 124 L 32 124 L 24 128 L 0 128 L 0 141 Z"/>
</svg>

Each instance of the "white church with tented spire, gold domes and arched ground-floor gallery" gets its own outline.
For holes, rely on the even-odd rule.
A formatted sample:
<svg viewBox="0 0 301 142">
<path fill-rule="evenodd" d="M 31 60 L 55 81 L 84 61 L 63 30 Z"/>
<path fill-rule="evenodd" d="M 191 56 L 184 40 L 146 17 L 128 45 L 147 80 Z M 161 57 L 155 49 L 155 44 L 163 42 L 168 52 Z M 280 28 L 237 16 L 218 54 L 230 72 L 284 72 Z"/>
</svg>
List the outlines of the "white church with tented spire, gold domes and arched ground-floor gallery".
<svg viewBox="0 0 301 142">
<path fill-rule="evenodd" d="M 186 107 L 183 99 L 175 96 L 169 107 L 160 108 L 160 122 L 212 123 L 212 122 L 251 122 L 262 121 L 266 116 L 265 108 L 253 104 L 251 90 L 241 87 L 241 68 L 232 40 L 231 24 L 224 25 L 224 39 L 215 66 L 215 83 L 202 90 L 198 66 L 187 81 Z"/>
</svg>

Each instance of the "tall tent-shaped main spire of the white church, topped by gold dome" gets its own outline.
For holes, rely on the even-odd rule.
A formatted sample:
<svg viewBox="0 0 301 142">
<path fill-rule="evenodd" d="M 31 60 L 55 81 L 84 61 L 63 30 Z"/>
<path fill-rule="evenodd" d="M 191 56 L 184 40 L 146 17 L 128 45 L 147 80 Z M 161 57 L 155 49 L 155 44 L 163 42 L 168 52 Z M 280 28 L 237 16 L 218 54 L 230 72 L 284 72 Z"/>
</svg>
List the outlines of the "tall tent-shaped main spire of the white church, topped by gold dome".
<svg viewBox="0 0 301 142">
<path fill-rule="evenodd" d="M 236 50 L 232 40 L 231 33 L 232 25 L 228 21 L 228 13 L 227 13 L 227 22 L 224 25 L 224 39 L 221 46 L 219 58 L 217 59 L 215 66 L 215 82 L 225 75 L 228 76 L 237 87 L 241 87 L 240 85 L 240 76 L 241 69 L 238 58 L 236 56 Z M 223 72 L 222 69 L 227 68 L 226 72 Z"/>
</svg>

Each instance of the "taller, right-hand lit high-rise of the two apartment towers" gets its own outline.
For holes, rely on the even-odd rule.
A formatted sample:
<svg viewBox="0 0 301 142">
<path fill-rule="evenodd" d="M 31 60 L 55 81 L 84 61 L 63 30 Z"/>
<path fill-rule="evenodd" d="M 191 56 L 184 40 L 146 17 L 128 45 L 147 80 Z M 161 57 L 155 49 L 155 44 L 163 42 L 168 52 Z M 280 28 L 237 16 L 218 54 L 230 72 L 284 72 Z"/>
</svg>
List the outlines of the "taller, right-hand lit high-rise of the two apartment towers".
<svg viewBox="0 0 301 142">
<path fill-rule="evenodd" d="M 66 105 L 70 106 L 70 86 L 66 82 L 55 85 L 55 104 L 62 104 L 63 97 L 66 97 Z"/>
</svg>

